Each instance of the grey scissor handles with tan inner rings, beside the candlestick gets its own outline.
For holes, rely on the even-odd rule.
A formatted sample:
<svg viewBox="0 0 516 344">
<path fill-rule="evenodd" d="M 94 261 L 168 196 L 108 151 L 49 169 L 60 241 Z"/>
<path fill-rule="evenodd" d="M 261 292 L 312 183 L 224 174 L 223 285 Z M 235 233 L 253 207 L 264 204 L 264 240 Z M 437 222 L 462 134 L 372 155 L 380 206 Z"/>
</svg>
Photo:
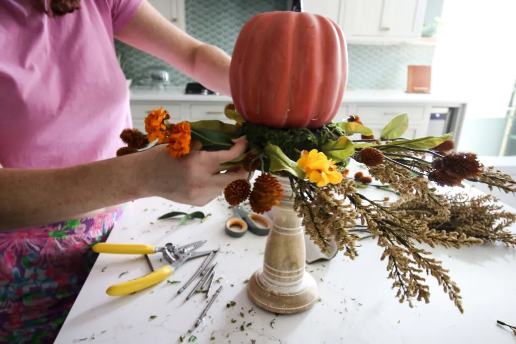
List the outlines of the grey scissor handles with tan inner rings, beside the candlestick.
<svg viewBox="0 0 516 344">
<path fill-rule="evenodd" d="M 270 221 L 267 218 L 249 212 L 241 206 L 232 207 L 233 217 L 225 222 L 224 232 L 234 238 L 240 238 L 247 230 L 256 235 L 267 235 L 270 231 Z"/>
</svg>

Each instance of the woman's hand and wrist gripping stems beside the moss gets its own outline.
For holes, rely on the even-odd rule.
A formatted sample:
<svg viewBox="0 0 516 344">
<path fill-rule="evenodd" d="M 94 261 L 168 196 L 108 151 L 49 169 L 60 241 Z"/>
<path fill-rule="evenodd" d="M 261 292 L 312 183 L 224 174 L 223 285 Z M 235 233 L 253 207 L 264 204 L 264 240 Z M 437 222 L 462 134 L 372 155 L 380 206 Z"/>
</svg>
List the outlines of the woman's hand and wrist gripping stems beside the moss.
<svg viewBox="0 0 516 344">
<path fill-rule="evenodd" d="M 246 179 L 244 169 L 230 169 L 221 173 L 220 163 L 244 154 L 247 140 L 240 138 L 225 151 L 200 151 L 200 142 L 192 142 L 190 153 L 173 158 L 165 145 L 158 145 L 140 155 L 139 168 L 144 194 L 168 200 L 204 206 L 221 195 L 223 189 L 236 179 Z"/>
</svg>

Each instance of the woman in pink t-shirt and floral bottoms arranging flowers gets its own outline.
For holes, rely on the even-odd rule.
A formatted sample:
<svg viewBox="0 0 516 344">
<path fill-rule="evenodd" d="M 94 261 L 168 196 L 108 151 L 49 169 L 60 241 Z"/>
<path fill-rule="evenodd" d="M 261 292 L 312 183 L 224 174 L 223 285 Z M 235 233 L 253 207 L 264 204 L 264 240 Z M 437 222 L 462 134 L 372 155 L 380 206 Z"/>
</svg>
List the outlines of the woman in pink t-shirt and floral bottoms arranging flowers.
<svg viewBox="0 0 516 344">
<path fill-rule="evenodd" d="M 245 151 L 116 157 L 131 127 L 114 38 L 230 95 L 230 57 L 146 0 L 0 1 L 0 342 L 52 342 L 125 202 L 205 205 Z"/>
</svg>

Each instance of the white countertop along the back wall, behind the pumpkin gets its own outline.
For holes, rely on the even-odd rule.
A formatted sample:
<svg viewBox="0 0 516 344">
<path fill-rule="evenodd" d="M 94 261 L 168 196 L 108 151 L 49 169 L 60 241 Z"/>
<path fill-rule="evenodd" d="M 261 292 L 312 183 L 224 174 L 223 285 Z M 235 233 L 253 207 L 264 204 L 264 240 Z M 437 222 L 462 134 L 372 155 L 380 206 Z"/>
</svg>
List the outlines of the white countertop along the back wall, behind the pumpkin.
<svg viewBox="0 0 516 344">
<path fill-rule="evenodd" d="M 150 90 L 135 86 L 130 89 L 130 99 L 131 101 L 232 102 L 231 97 L 225 95 L 185 94 L 182 87 Z M 406 93 L 404 90 L 347 90 L 344 93 L 343 103 L 410 103 L 434 106 L 460 106 L 467 103 L 467 97 L 460 94 L 440 94 L 438 92 L 430 94 Z"/>
</svg>

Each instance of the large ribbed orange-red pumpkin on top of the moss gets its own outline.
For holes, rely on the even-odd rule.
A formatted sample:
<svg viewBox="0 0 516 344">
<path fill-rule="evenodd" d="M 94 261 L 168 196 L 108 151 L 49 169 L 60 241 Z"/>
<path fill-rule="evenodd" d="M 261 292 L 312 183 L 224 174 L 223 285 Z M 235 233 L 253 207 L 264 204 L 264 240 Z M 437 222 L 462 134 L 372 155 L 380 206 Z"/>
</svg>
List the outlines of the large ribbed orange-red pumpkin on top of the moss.
<svg viewBox="0 0 516 344">
<path fill-rule="evenodd" d="M 264 12 L 236 40 L 231 95 L 246 122 L 318 128 L 341 106 L 347 72 L 346 41 L 335 22 L 306 12 Z"/>
</svg>

